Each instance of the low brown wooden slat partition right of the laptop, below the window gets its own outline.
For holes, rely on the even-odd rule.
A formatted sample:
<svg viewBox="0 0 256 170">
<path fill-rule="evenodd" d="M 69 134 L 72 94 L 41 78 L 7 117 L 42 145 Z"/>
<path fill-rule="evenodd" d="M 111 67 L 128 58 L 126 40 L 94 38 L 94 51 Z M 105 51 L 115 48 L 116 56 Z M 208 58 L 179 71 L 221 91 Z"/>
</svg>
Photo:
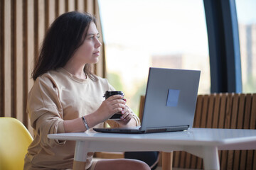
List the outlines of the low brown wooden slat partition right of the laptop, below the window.
<svg viewBox="0 0 256 170">
<path fill-rule="evenodd" d="M 256 128 L 256 94 L 199 95 L 194 128 Z M 220 169 L 256 169 L 255 150 L 219 151 Z M 174 167 L 203 169 L 201 158 L 174 152 Z"/>
</svg>

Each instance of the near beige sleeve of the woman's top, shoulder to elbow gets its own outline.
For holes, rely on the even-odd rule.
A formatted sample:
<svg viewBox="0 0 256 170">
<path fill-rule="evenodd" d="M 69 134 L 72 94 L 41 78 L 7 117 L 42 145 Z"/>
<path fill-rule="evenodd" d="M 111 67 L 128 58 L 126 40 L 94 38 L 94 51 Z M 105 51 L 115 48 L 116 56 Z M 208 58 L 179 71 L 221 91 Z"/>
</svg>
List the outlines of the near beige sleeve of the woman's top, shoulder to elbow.
<svg viewBox="0 0 256 170">
<path fill-rule="evenodd" d="M 42 145 L 53 147 L 65 141 L 50 140 L 48 134 L 64 132 L 63 109 L 58 88 L 50 77 L 38 77 L 28 94 L 27 112 L 31 126 L 40 136 Z"/>
</svg>

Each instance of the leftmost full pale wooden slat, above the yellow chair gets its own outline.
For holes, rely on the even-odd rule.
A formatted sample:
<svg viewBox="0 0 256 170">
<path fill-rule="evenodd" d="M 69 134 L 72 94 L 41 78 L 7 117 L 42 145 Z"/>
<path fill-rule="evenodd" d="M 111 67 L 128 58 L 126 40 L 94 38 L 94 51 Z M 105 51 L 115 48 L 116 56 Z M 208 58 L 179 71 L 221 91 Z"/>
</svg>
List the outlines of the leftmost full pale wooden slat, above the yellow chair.
<svg viewBox="0 0 256 170">
<path fill-rule="evenodd" d="M 11 117 L 11 1 L 4 0 L 4 116 Z"/>
</svg>

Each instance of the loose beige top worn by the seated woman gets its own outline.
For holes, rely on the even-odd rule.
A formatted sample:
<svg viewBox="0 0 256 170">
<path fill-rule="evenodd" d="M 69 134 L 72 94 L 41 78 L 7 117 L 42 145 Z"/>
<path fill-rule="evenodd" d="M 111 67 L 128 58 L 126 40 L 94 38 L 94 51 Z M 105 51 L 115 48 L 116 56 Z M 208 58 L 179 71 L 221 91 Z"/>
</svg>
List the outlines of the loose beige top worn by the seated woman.
<svg viewBox="0 0 256 170">
<path fill-rule="evenodd" d="M 47 135 L 65 132 L 63 120 L 93 113 L 105 100 L 105 91 L 114 91 L 107 79 L 97 78 L 98 81 L 79 79 L 60 68 L 36 79 L 27 104 L 35 137 L 28 147 L 24 169 L 72 168 L 75 142 L 50 140 Z M 134 115 L 134 119 L 139 125 L 139 118 Z M 118 126 L 114 121 L 109 124 Z M 104 123 L 100 123 L 93 128 L 103 126 Z M 87 155 L 86 169 L 91 166 L 92 154 Z"/>
</svg>

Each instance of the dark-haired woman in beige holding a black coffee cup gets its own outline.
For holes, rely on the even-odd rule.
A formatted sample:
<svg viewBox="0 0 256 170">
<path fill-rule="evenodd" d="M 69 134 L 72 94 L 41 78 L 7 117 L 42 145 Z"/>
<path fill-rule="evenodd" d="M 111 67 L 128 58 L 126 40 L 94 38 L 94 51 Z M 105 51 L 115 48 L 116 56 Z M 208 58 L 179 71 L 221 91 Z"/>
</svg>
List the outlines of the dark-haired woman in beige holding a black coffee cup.
<svg viewBox="0 0 256 170">
<path fill-rule="evenodd" d="M 95 18 L 89 13 L 69 12 L 50 26 L 32 77 L 27 112 L 35 138 L 28 147 L 24 169 L 71 169 L 75 143 L 50 140 L 47 135 L 60 132 L 85 132 L 111 126 L 139 125 L 139 119 L 125 105 L 122 96 L 104 101 L 105 91 L 114 88 L 106 79 L 90 72 L 99 60 L 101 43 Z M 108 120 L 122 112 L 121 120 Z M 122 144 L 120 144 L 122 145 Z M 132 159 L 92 160 L 87 154 L 85 169 L 149 169 Z"/>
</svg>

